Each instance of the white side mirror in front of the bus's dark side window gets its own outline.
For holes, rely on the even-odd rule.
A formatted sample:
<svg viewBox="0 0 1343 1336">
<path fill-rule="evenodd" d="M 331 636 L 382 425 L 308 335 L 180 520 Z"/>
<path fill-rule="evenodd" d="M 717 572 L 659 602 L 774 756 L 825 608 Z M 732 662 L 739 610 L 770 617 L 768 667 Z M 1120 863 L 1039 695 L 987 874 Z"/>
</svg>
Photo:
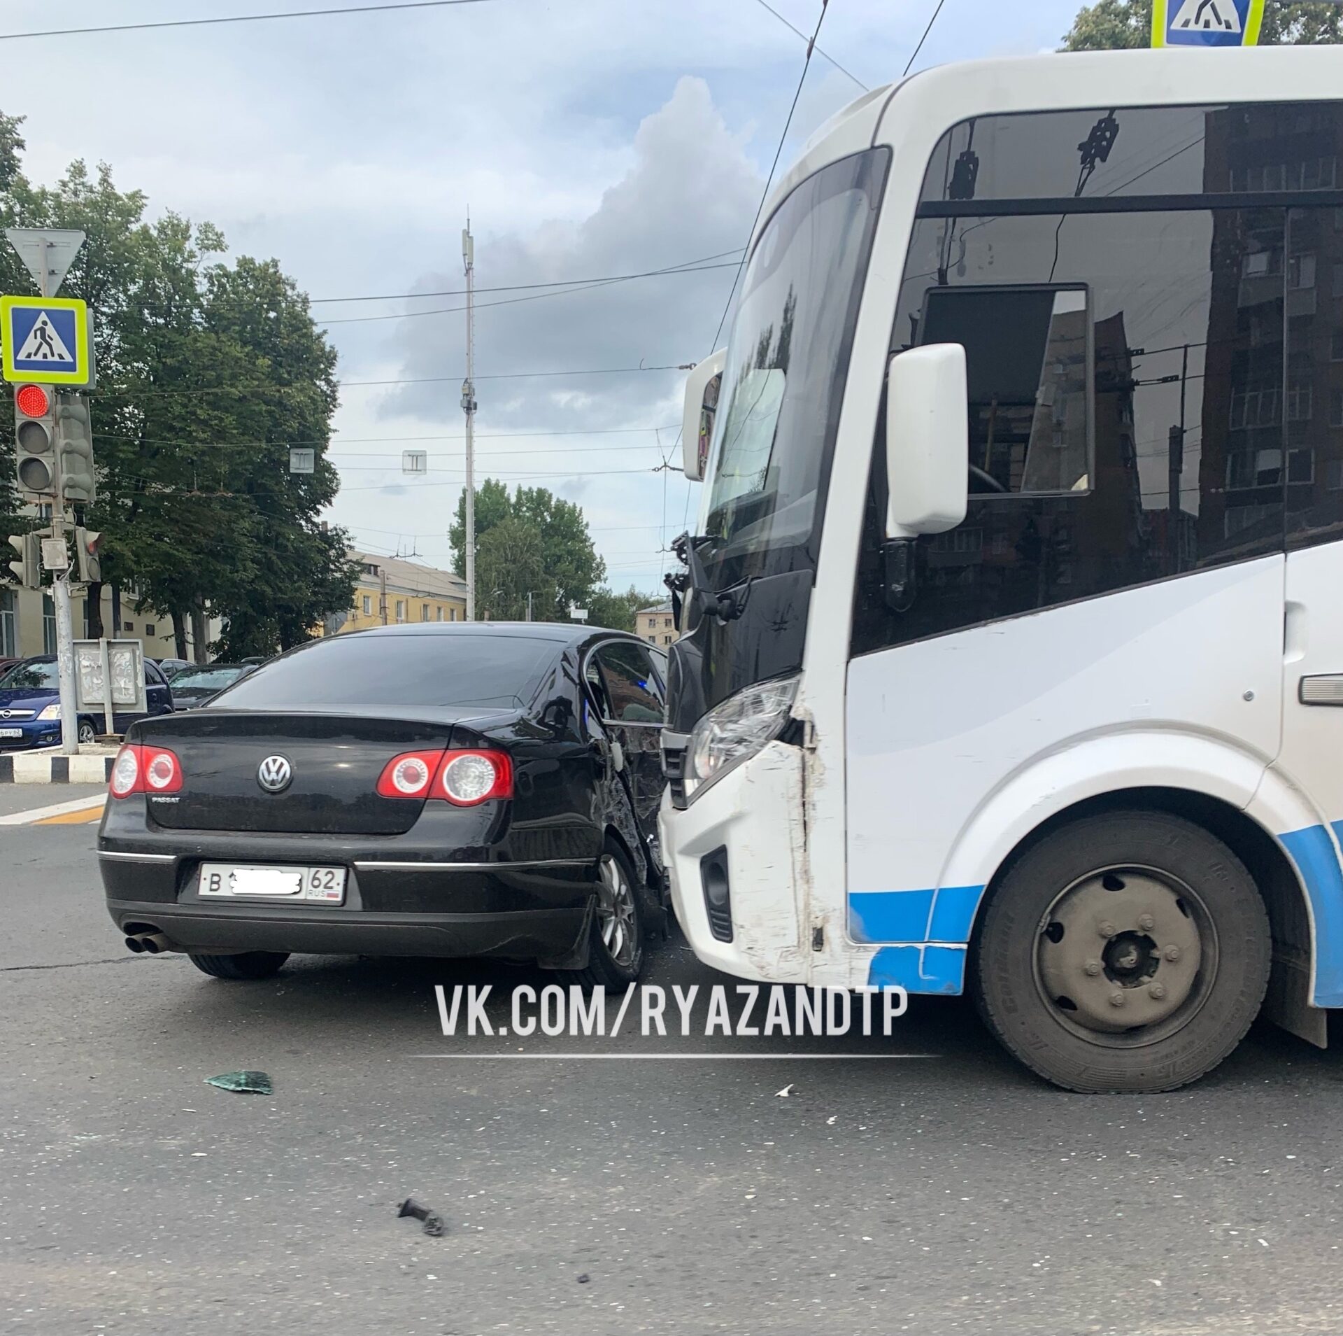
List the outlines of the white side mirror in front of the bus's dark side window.
<svg viewBox="0 0 1343 1336">
<path fill-rule="evenodd" d="M 886 368 L 886 539 L 943 534 L 966 517 L 970 401 L 966 349 L 933 343 Z"/>
</svg>

